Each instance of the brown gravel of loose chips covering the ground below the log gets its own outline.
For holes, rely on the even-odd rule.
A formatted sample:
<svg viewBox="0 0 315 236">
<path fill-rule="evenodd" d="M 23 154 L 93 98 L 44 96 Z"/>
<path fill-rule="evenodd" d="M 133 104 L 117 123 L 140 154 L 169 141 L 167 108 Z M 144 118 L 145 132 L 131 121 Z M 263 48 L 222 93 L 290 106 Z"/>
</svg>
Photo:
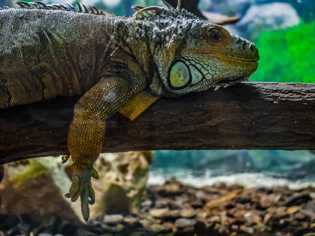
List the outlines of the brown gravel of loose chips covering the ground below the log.
<svg viewBox="0 0 315 236">
<path fill-rule="evenodd" d="M 0 214 L 0 236 L 315 236 L 313 198 L 313 187 L 193 188 L 171 179 L 147 188 L 138 214 L 104 215 L 87 223 Z"/>
</svg>

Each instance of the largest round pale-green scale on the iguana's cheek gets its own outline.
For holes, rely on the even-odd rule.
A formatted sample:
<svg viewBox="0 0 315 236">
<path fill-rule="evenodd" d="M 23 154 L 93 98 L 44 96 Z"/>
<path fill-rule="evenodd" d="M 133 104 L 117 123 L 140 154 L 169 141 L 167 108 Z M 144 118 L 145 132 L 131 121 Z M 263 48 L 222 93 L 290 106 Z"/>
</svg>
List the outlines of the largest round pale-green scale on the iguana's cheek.
<svg viewBox="0 0 315 236">
<path fill-rule="evenodd" d="M 177 61 L 169 71 L 169 83 L 174 88 L 182 88 L 192 80 L 190 71 L 182 61 Z"/>
</svg>

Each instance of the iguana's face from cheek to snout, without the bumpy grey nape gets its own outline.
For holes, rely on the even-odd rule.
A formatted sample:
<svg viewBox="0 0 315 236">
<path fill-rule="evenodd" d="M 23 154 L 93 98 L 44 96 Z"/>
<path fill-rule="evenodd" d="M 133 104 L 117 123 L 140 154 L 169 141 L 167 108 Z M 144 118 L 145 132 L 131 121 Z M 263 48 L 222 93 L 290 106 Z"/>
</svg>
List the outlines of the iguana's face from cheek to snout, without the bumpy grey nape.
<svg viewBox="0 0 315 236">
<path fill-rule="evenodd" d="M 168 52 L 171 44 L 172 54 Z M 166 43 L 157 54 L 159 74 L 170 95 L 247 80 L 259 60 L 253 43 L 215 24 L 193 23 L 185 37 Z"/>
</svg>

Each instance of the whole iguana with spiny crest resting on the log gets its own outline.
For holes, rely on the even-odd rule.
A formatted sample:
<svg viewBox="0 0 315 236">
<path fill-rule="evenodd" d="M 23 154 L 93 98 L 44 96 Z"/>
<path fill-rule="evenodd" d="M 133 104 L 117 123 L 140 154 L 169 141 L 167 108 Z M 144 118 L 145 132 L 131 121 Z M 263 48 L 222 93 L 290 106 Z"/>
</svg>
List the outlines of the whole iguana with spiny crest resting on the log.
<svg viewBox="0 0 315 236">
<path fill-rule="evenodd" d="M 79 3 L 78 10 L 16 3 L 0 10 L 0 108 L 82 95 L 69 129 L 73 177 L 65 196 L 80 196 L 85 221 L 106 118 L 119 112 L 134 120 L 161 96 L 227 87 L 258 66 L 253 43 L 204 24 L 180 1 L 176 9 L 164 2 L 168 10 L 133 6 L 131 18 Z"/>
</svg>

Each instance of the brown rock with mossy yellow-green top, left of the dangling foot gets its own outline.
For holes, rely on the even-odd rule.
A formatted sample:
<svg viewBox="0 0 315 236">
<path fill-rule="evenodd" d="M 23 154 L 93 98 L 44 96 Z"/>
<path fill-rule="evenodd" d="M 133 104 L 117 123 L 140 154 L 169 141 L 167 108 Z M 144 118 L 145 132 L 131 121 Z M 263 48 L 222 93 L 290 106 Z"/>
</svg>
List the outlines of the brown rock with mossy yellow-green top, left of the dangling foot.
<svg viewBox="0 0 315 236">
<path fill-rule="evenodd" d="M 74 222 L 83 220 L 80 208 L 64 197 L 71 180 L 61 158 L 34 158 L 5 164 L 3 168 L 4 177 L 0 183 L 3 214 L 28 213 L 38 221 L 51 214 Z"/>
</svg>

